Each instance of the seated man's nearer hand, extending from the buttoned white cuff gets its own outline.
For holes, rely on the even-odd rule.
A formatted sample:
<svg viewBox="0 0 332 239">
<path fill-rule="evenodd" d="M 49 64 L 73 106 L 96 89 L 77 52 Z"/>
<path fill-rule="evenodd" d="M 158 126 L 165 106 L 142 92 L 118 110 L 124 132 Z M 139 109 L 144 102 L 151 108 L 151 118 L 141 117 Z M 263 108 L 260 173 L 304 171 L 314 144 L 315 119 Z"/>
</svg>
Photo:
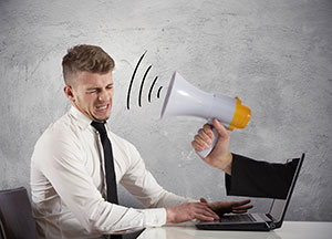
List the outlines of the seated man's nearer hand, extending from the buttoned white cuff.
<svg viewBox="0 0 332 239">
<path fill-rule="evenodd" d="M 167 222 L 179 224 L 193 219 L 218 220 L 219 217 L 206 202 L 187 202 L 175 208 L 166 208 Z"/>
</svg>

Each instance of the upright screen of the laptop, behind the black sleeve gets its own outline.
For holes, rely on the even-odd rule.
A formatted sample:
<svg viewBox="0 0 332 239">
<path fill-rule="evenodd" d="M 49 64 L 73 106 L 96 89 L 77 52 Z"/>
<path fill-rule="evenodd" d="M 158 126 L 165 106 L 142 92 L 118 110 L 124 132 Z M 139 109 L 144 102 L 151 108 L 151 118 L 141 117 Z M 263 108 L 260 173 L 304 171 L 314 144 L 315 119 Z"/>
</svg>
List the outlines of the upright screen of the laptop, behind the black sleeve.
<svg viewBox="0 0 332 239">
<path fill-rule="evenodd" d="M 304 156 L 305 155 L 302 154 L 302 157 L 300 158 L 300 160 L 298 163 L 298 167 L 297 167 L 297 170 L 294 173 L 292 184 L 291 184 L 291 186 L 289 188 L 289 191 L 288 191 L 288 195 L 287 195 L 287 199 L 273 199 L 273 202 L 271 205 L 269 215 L 272 216 L 274 221 L 281 221 L 284 217 L 287 207 L 289 205 L 290 198 L 291 198 L 292 193 L 293 193 L 293 188 L 295 186 L 298 176 L 300 174 L 300 169 L 301 169 Z"/>
</svg>

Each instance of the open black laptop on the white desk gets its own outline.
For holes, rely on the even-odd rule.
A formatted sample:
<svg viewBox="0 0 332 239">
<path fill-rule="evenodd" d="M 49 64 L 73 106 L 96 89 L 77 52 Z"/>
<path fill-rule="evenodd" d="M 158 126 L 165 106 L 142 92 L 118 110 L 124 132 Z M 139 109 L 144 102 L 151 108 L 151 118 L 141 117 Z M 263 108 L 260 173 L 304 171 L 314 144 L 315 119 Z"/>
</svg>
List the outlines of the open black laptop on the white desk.
<svg viewBox="0 0 332 239">
<path fill-rule="evenodd" d="M 200 221 L 195 226 L 203 230 L 246 230 L 246 231 L 269 231 L 282 226 L 282 221 L 291 199 L 295 183 L 298 180 L 302 163 L 305 154 L 303 153 L 291 186 L 286 199 L 273 199 L 270 211 L 266 214 L 242 214 L 242 215 L 227 215 L 220 217 L 218 221 Z"/>
</svg>

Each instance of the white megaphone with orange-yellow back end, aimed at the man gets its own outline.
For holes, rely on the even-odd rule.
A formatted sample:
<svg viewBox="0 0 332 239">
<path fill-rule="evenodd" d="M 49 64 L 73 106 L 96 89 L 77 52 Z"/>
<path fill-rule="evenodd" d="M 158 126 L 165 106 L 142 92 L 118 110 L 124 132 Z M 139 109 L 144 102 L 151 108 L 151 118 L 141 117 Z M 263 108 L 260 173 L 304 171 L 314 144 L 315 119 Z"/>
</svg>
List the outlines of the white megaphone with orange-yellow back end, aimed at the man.
<svg viewBox="0 0 332 239">
<path fill-rule="evenodd" d="M 160 118 L 180 115 L 206 118 L 209 124 L 212 124 L 212 118 L 218 118 L 227 129 L 234 131 L 234 128 L 247 126 L 251 111 L 248 106 L 242 105 L 239 97 L 206 93 L 191 85 L 179 73 L 174 72 L 164 100 Z M 215 147 L 218 133 L 215 128 L 212 131 L 215 138 L 210 147 L 198 152 L 201 157 L 206 157 Z"/>
</svg>

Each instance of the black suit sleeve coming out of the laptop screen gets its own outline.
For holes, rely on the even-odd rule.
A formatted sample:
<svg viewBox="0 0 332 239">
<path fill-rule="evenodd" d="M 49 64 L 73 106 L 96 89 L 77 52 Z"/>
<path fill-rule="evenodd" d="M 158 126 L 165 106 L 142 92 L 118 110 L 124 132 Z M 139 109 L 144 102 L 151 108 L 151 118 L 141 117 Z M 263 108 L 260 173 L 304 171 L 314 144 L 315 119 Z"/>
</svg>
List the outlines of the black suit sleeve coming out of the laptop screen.
<svg viewBox="0 0 332 239">
<path fill-rule="evenodd" d="M 227 195 L 286 199 L 298 163 L 299 158 L 272 164 L 232 154 L 231 176 L 225 174 Z"/>
</svg>

